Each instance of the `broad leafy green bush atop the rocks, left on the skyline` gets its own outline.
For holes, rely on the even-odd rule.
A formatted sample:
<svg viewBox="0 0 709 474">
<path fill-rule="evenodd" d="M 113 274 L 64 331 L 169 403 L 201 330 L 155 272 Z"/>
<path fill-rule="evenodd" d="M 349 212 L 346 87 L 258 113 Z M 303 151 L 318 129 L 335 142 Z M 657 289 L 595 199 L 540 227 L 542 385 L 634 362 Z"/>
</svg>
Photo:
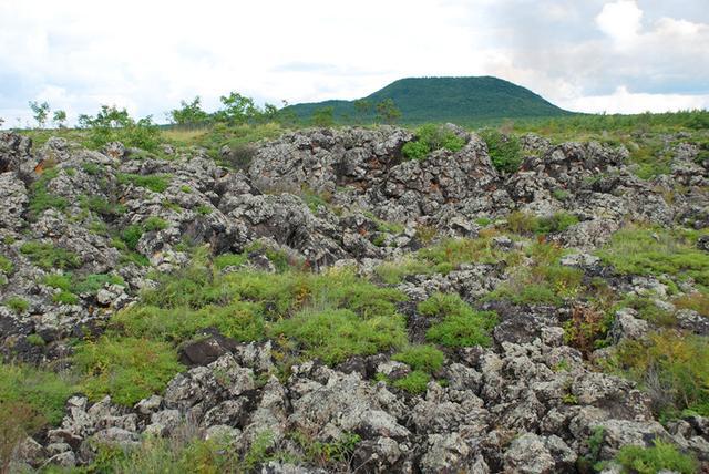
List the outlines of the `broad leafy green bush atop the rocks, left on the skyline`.
<svg viewBox="0 0 709 474">
<path fill-rule="evenodd" d="M 126 146 L 154 152 L 160 145 L 160 128 L 150 115 L 135 121 L 125 109 L 102 105 L 95 117 L 82 115 L 79 123 L 89 130 L 88 144 L 96 148 L 110 142 L 121 142 Z"/>
</svg>

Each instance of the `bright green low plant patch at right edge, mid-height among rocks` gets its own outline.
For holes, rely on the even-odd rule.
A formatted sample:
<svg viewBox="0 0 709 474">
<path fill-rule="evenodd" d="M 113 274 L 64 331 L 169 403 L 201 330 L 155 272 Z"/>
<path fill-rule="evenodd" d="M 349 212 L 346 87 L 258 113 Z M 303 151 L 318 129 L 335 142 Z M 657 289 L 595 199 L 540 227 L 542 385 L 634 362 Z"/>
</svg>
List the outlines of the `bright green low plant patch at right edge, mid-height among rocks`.
<svg viewBox="0 0 709 474">
<path fill-rule="evenodd" d="M 680 230 L 628 226 L 615 233 L 597 254 L 620 274 L 691 277 L 709 286 L 709 254 Z"/>
</svg>

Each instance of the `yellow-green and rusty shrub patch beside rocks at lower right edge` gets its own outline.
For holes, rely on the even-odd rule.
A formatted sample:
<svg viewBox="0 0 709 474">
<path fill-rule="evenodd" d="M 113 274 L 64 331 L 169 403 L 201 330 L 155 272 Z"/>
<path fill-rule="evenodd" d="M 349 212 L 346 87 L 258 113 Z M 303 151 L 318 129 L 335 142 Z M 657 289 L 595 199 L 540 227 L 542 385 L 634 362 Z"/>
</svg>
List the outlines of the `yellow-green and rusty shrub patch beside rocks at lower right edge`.
<svg viewBox="0 0 709 474">
<path fill-rule="evenodd" d="M 645 340 L 625 341 L 614 365 L 639 382 L 665 415 L 691 410 L 709 415 L 709 339 L 664 330 Z"/>
</svg>

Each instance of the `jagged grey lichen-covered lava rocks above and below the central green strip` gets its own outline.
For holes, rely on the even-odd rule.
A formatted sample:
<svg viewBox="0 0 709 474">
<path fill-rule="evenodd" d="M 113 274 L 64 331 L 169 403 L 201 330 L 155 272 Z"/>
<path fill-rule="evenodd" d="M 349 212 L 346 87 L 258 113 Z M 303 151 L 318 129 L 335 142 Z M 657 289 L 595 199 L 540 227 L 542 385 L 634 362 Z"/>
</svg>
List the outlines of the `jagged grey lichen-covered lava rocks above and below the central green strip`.
<svg viewBox="0 0 709 474">
<path fill-rule="evenodd" d="M 265 271 L 278 264 L 273 250 L 312 271 L 356 266 L 376 278 L 382 261 L 424 247 L 427 229 L 438 238 L 474 238 L 513 212 L 568 213 L 577 223 L 547 236 L 569 249 L 562 265 L 589 278 L 606 276 L 621 291 L 661 293 L 666 282 L 616 275 L 593 250 L 626 220 L 697 229 L 709 224 L 709 169 L 693 161 L 691 145 L 675 150 L 671 175 L 647 182 L 630 172 L 623 147 L 553 145 L 528 135 L 521 169 L 502 175 L 484 142 L 448 126 L 465 146 L 435 151 L 424 161 L 403 159 L 403 144 L 414 138 L 407 130 L 310 130 L 260 144 L 240 171 L 198 150 L 167 148 L 169 159 L 156 159 L 119 143 L 95 152 L 51 138 L 33 152 L 28 138 L 3 133 L 0 251 L 11 269 L 0 277 L 0 301 L 21 298 L 27 307 L 0 306 L 2 354 L 61 364 L 73 338 L 100 333 L 141 289 L 155 285 L 151 272 L 185 266 L 186 247 L 208 245 L 214 255 L 246 250 L 246 265 Z M 126 237 L 131 230 L 134 239 Z M 501 247 L 518 245 L 495 238 Z M 63 301 L 62 289 L 47 285 L 58 269 L 114 278 Z M 414 302 L 436 291 L 475 302 L 507 279 L 504 266 L 474 262 L 411 276 L 397 288 Z M 691 292 L 692 284 L 685 285 L 682 291 Z M 237 343 L 210 333 L 182 348 L 189 369 L 164 393 L 132 408 L 111 398 L 72 396 L 61 425 L 25 440 L 19 457 L 33 467 L 84 465 L 94 461 L 96 443 L 130 447 L 145 434 L 171 436 L 187 424 L 207 439 L 228 435 L 230 449 L 243 455 L 263 433 L 271 451 L 286 453 L 302 451 L 294 432 L 322 443 L 358 437 L 331 464 L 270 460 L 254 467 L 265 473 L 574 472 L 592 450 L 608 461 L 624 445 L 650 446 L 653 440 L 691 453 L 706 468 L 709 420 L 688 415 L 660 424 L 647 393 L 599 372 L 587 354 L 567 346 L 568 306 L 483 305 L 501 317 L 492 346 L 446 352 L 436 374 L 445 387 L 431 381 L 421 395 L 373 380 L 410 371 L 390 354 L 336 367 L 299 362 L 287 378 L 277 378 L 269 341 Z M 696 312 L 679 320 L 690 332 L 709 333 L 707 319 Z M 650 329 L 628 309 L 609 333 L 617 343 Z M 37 336 L 41 344 L 32 342 Z M 604 351 L 592 359 L 603 359 Z M 603 440 L 593 446 L 589 439 L 598 432 Z"/>
</svg>

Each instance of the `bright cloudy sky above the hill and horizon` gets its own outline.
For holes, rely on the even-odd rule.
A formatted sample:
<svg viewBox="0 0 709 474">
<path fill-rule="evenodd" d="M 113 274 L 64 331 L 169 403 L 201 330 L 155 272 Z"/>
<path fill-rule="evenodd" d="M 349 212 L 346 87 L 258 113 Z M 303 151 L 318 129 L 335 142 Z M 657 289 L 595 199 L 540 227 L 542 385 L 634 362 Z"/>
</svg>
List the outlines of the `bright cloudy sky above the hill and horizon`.
<svg viewBox="0 0 709 474">
<path fill-rule="evenodd" d="M 709 109 L 708 0 L 0 0 L 0 117 L 135 115 L 238 91 L 356 99 L 495 75 L 584 112 Z"/>
</svg>

